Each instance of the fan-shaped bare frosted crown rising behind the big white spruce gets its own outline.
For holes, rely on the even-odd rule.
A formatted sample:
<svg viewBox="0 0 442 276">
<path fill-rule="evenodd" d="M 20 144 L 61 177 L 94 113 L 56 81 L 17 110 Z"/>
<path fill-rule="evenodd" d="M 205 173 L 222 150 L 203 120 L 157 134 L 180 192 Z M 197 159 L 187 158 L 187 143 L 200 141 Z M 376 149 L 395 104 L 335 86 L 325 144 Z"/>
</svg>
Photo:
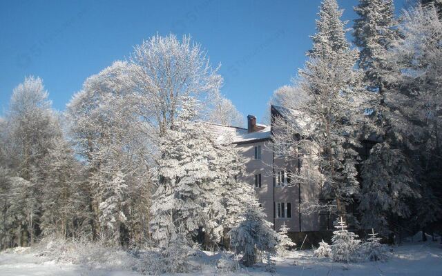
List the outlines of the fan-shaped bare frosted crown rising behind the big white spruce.
<svg viewBox="0 0 442 276">
<path fill-rule="evenodd" d="M 173 126 L 180 99 L 211 102 L 222 84 L 218 68 L 212 68 L 200 44 L 186 36 L 180 40 L 157 34 L 135 46 L 130 63 L 137 113 L 159 136 Z"/>
</svg>

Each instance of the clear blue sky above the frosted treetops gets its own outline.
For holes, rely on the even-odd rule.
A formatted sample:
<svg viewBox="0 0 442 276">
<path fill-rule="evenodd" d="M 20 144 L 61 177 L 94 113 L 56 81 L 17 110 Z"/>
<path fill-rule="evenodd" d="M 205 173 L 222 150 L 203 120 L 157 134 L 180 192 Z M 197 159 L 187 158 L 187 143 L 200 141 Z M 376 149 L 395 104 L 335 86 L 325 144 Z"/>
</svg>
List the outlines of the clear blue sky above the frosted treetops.
<svg viewBox="0 0 442 276">
<path fill-rule="evenodd" d="M 395 0 L 396 10 L 405 0 Z M 357 0 L 338 0 L 344 19 Z M 0 0 L 0 114 L 25 76 L 44 80 L 64 110 L 86 77 L 156 34 L 191 34 L 221 63 L 222 93 L 258 121 L 273 90 L 289 84 L 311 48 L 320 0 Z"/>
</svg>

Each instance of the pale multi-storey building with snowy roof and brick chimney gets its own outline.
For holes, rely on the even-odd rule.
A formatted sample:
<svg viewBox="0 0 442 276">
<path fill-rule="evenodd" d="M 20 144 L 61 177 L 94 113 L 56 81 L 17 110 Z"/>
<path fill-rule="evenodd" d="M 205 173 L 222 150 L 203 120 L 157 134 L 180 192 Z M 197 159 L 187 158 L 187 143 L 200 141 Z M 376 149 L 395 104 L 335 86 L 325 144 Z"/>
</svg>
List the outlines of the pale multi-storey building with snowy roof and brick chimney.
<svg viewBox="0 0 442 276">
<path fill-rule="evenodd" d="M 233 134 L 233 144 L 240 148 L 247 161 L 247 175 L 242 180 L 255 188 L 260 205 L 275 230 L 285 224 L 291 229 L 292 238 L 299 243 L 299 240 L 302 242 L 305 238 L 305 233 L 328 230 L 329 224 L 325 227 L 320 223 L 324 220 L 323 215 L 301 211 L 301 204 L 306 201 L 317 202 L 320 192 L 318 185 L 307 187 L 291 181 L 291 172 L 302 170 L 301 161 L 285 161 L 276 154 L 271 137 L 278 131 L 274 126 L 274 119 L 283 117 L 283 110 L 284 108 L 271 106 L 270 126 L 257 124 L 253 115 L 247 116 L 247 128 L 206 124 L 215 137 L 220 137 L 226 131 Z M 317 233 L 312 235 L 318 236 Z M 310 239 L 310 242 L 316 242 L 316 239 Z"/>
</svg>

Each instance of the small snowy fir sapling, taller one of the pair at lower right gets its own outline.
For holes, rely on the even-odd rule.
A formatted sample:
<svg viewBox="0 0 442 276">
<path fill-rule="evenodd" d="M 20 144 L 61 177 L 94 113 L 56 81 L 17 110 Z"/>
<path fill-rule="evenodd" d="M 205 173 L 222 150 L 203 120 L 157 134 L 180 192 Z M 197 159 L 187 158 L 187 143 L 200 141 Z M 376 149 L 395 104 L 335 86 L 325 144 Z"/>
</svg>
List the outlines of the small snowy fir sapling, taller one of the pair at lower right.
<svg viewBox="0 0 442 276">
<path fill-rule="evenodd" d="M 359 244 L 361 244 L 361 241 L 357 239 L 358 235 L 347 230 L 343 217 L 340 217 L 335 228 L 338 230 L 333 231 L 332 237 L 333 261 L 344 263 L 356 262 L 359 257 Z"/>
</svg>

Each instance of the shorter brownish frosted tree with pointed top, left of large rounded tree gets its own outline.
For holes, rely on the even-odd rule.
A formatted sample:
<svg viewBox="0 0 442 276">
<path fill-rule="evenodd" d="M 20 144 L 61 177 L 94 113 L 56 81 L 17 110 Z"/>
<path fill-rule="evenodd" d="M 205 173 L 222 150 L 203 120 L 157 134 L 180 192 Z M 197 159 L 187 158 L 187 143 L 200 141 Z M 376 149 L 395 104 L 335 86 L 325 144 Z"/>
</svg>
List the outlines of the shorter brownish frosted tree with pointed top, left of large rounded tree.
<svg viewBox="0 0 442 276">
<path fill-rule="evenodd" d="M 44 159 L 46 179 L 41 200 L 40 228 L 44 235 L 85 237 L 90 235 L 88 195 L 81 165 L 70 144 L 60 138 Z"/>
</svg>

